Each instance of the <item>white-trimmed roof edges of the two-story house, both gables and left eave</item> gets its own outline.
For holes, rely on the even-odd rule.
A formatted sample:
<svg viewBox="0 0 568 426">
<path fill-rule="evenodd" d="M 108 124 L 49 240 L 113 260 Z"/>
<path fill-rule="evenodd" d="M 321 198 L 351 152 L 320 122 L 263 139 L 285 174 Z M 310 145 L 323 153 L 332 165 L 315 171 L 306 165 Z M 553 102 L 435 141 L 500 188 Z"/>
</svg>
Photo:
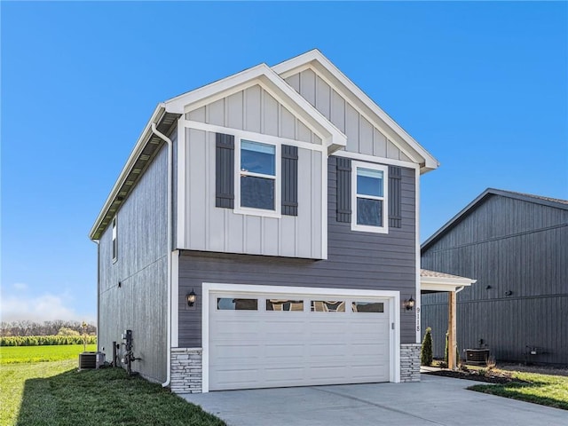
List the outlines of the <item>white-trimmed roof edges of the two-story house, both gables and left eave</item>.
<svg viewBox="0 0 568 426">
<path fill-rule="evenodd" d="M 99 240 L 106 226 L 112 220 L 122 205 L 139 177 L 144 174 L 147 165 L 152 162 L 158 148 L 162 146 L 162 139 L 152 130 L 154 124 L 159 132 L 168 135 L 177 122 L 177 119 L 186 112 L 206 105 L 217 99 L 224 98 L 236 91 L 241 91 L 254 84 L 259 84 L 272 97 L 277 99 L 290 112 L 296 114 L 308 125 L 327 146 L 327 154 L 333 154 L 347 144 L 347 137 L 338 130 L 335 125 L 327 120 L 312 104 L 296 92 L 284 81 L 288 72 L 298 67 L 316 67 L 319 73 L 327 74 L 327 78 L 334 80 L 335 86 L 342 87 L 341 93 L 348 97 L 351 102 L 358 102 L 359 107 L 366 110 L 367 114 L 375 114 L 375 121 L 383 126 L 386 123 L 387 136 L 393 143 L 398 144 L 402 151 L 421 165 L 421 171 L 425 172 L 438 167 L 438 161 L 432 157 L 414 138 L 411 138 L 396 122 L 379 108 L 375 102 L 367 97 L 354 83 L 351 82 L 337 67 L 335 67 L 320 51 L 313 50 L 280 63 L 275 67 L 259 64 L 250 67 L 240 73 L 230 75 L 217 82 L 207 84 L 193 91 L 188 91 L 175 98 L 161 102 L 154 109 L 145 129 L 138 137 L 122 172 L 118 177 L 113 189 L 106 198 L 103 208 L 100 210 L 95 223 L 91 227 L 89 237 L 91 240 Z M 382 127 L 383 129 L 383 127 Z"/>
</svg>

